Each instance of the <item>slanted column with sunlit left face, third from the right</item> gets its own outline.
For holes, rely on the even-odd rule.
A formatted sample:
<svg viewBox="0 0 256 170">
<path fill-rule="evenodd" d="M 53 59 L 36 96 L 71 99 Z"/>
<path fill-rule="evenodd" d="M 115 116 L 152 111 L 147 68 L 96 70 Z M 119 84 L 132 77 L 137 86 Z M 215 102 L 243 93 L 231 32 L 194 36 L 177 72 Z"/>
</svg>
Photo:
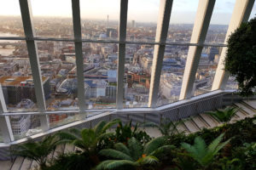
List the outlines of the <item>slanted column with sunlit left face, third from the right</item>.
<svg viewBox="0 0 256 170">
<path fill-rule="evenodd" d="M 155 35 L 155 42 L 160 42 L 160 45 L 154 45 L 154 57 L 151 71 L 148 107 L 155 107 L 157 102 L 160 75 L 165 54 L 165 43 L 169 29 L 171 11 L 172 0 L 160 0 L 160 8 Z"/>
</svg>

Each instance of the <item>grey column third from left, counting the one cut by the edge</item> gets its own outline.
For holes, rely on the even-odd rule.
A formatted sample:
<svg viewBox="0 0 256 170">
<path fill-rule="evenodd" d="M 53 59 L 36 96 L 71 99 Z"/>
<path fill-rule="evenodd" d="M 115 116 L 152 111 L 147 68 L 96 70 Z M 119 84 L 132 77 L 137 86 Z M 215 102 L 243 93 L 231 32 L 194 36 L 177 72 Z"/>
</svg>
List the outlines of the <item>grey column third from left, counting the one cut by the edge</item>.
<svg viewBox="0 0 256 170">
<path fill-rule="evenodd" d="M 75 53 L 78 77 L 78 97 L 79 110 L 84 111 L 85 96 L 84 96 L 84 59 L 82 51 L 82 37 L 81 37 L 81 19 L 80 19 L 80 5 L 79 0 L 72 0 L 73 11 L 73 33 L 75 40 Z"/>
</svg>

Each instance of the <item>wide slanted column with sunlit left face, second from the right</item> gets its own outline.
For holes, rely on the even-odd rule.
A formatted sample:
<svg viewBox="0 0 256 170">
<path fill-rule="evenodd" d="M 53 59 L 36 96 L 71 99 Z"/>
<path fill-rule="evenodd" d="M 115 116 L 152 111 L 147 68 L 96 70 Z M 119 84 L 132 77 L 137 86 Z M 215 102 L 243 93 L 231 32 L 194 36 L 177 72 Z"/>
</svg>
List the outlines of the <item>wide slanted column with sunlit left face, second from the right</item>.
<svg viewBox="0 0 256 170">
<path fill-rule="evenodd" d="M 190 43 L 203 44 L 207 37 L 207 30 L 212 17 L 212 10 L 215 0 L 200 0 L 195 16 L 195 24 L 191 35 Z M 195 73 L 201 58 L 202 46 L 190 46 L 183 74 L 183 83 L 179 99 L 189 99 L 193 95 Z"/>
</svg>

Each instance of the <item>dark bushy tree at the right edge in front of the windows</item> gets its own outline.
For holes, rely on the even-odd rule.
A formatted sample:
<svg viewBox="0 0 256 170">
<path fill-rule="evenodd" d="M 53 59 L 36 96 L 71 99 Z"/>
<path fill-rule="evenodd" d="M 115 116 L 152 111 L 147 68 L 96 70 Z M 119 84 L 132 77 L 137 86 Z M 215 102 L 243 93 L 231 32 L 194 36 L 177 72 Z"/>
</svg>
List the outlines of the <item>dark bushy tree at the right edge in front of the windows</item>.
<svg viewBox="0 0 256 170">
<path fill-rule="evenodd" d="M 241 24 L 228 40 L 225 71 L 236 77 L 241 95 L 255 94 L 256 87 L 256 18 Z"/>
</svg>

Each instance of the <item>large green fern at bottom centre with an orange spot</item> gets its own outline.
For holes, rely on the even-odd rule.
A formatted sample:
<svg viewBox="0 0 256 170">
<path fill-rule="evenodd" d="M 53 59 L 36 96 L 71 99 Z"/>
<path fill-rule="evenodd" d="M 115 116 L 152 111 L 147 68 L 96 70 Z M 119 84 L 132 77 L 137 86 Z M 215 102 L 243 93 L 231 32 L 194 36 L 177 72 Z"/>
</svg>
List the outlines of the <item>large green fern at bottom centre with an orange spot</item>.
<svg viewBox="0 0 256 170">
<path fill-rule="evenodd" d="M 96 169 L 141 169 L 147 165 L 155 165 L 159 162 L 158 157 L 166 151 L 172 150 L 175 146 L 165 145 L 166 137 L 151 140 L 143 146 L 137 139 L 132 137 L 127 145 L 123 143 L 114 144 L 114 149 L 101 150 L 102 156 L 107 156 L 113 160 L 102 161 Z"/>
</svg>

